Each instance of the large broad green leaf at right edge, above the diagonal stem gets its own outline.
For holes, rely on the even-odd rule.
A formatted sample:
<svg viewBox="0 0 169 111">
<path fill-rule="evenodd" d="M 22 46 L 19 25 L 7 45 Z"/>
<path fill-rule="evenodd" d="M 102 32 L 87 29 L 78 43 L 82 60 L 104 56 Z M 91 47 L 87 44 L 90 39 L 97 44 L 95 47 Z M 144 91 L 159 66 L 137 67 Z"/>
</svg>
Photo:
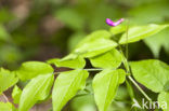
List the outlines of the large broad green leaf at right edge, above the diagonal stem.
<svg viewBox="0 0 169 111">
<path fill-rule="evenodd" d="M 155 93 L 169 81 L 169 66 L 156 59 L 130 63 L 134 79 Z"/>
</svg>

